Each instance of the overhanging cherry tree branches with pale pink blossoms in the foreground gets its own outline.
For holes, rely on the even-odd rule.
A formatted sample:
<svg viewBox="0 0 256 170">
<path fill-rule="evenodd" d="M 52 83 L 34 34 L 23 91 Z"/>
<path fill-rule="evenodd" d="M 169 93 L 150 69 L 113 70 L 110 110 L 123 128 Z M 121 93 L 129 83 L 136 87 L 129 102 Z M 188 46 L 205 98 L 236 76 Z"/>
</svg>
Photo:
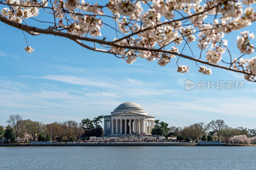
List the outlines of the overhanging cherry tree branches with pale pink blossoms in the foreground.
<svg viewBox="0 0 256 170">
<path fill-rule="evenodd" d="M 160 66 L 174 60 L 177 71 L 186 73 L 189 66 L 178 65 L 179 58 L 182 57 L 195 61 L 196 65 L 201 63 L 243 73 L 246 80 L 256 81 L 256 57 L 245 58 L 245 55 L 252 55 L 255 50 L 251 43 L 255 35 L 249 31 L 237 35 L 236 44 L 241 52 L 241 56 L 237 58 L 231 55 L 228 40 L 224 39 L 226 34 L 246 28 L 256 20 L 256 0 L 99 2 L 100 4 L 89 0 L 0 0 L 0 21 L 22 30 L 23 33 L 52 34 L 71 39 L 87 49 L 113 54 L 126 60 L 128 64 L 132 64 L 138 57 L 150 62 L 156 60 Z M 47 14 L 42 15 L 43 21 L 37 18 L 40 13 Z M 116 24 L 109 24 L 109 18 Z M 31 25 L 29 19 L 43 23 L 48 28 Z M 110 35 L 102 35 L 103 29 L 112 29 L 112 38 L 109 38 Z M 90 42 L 94 46 L 90 46 Z M 197 43 L 200 55 L 194 55 L 191 43 Z M 189 48 L 191 55 L 184 54 L 185 47 Z M 28 45 L 25 50 L 28 53 L 34 51 Z M 205 56 L 202 55 L 203 51 Z M 203 65 L 198 67 L 199 73 L 212 74 L 211 68 Z"/>
</svg>

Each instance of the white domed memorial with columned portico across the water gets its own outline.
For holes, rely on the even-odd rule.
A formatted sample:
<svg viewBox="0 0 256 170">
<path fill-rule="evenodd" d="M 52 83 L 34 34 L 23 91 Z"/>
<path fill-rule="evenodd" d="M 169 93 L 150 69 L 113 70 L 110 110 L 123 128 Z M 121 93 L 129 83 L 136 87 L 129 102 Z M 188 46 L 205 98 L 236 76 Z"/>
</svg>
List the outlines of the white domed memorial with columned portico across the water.
<svg viewBox="0 0 256 170">
<path fill-rule="evenodd" d="M 124 102 L 104 116 L 104 135 L 107 134 L 151 134 L 155 116 L 148 115 L 139 104 Z"/>
</svg>

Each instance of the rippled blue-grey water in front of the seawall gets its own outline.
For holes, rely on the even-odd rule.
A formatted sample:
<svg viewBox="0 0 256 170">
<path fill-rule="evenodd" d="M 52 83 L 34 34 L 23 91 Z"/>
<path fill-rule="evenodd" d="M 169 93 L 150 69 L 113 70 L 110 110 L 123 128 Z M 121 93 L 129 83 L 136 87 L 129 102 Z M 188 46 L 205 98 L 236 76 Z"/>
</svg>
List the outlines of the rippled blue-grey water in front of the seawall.
<svg viewBox="0 0 256 170">
<path fill-rule="evenodd" d="M 256 169 L 255 146 L 0 147 L 0 169 Z"/>
</svg>

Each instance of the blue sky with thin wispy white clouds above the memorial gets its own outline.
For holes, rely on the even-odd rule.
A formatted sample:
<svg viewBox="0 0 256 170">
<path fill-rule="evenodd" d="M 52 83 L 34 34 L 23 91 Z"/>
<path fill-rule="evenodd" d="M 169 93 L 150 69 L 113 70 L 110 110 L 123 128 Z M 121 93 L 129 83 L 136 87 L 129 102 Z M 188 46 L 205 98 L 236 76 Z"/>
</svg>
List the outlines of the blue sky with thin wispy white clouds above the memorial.
<svg viewBox="0 0 256 170">
<path fill-rule="evenodd" d="M 103 29 L 102 34 L 108 32 L 113 33 L 108 37 L 112 40 L 112 30 Z M 225 37 L 234 56 L 241 55 L 236 49 L 238 34 L 232 32 Z M 190 67 L 186 74 L 176 72 L 176 59 L 165 67 L 140 58 L 129 65 L 110 54 L 90 51 L 52 35 L 26 34 L 28 45 L 35 49 L 28 54 L 22 31 L 3 23 L 0 37 L 0 124 L 5 124 L 11 114 L 44 123 L 69 119 L 80 122 L 108 115 L 120 103 L 132 101 L 169 125 L 183 127 L 223 119 L 232 127 L 256 128 L 256 84 L 244 80 L 243 74 L 211 67 L 212 75 L 203 75 L 194 62 L 182 58 L 179 65 Z M 196 43 L 191 46 L 199 55 Z M 188 48 L 185 54 L 191 55 Z M 228 61 L 228 53 L 223 59 Z M 186 80 L 244 81 L 244 87 L 187 91 Z"/>
</svg>

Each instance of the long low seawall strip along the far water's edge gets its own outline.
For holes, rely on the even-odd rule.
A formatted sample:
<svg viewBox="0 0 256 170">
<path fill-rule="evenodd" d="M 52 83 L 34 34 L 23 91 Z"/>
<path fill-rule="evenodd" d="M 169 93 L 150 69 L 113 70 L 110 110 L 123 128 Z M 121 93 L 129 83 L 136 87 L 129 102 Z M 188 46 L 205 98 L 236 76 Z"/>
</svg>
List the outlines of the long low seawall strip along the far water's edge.
<svg viewBox="0 0 256 170">
<path fill-rule="evenodd" d="M 249 146 L 239 144 L 202 144 L 202 143 L 48 143 L 48 144 L 0 144 L 0 146 Z"/>
</svg>

